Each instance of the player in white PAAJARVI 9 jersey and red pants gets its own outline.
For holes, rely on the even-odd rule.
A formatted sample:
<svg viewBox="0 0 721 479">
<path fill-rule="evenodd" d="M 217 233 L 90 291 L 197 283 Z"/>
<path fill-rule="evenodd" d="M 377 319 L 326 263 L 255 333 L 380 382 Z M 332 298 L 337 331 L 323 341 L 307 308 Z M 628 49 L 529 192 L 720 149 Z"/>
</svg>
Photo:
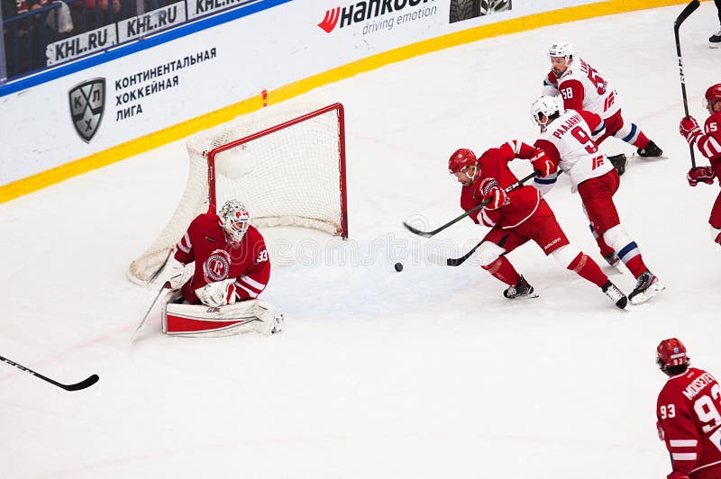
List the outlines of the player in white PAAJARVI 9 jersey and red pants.
<svg viewBox="0 0 721 479">
<path fill-rule="evenodd" d="M 571 192 L 580 194 L 591 229 L 616 252 L 636 278 L 628 300 L 638 304 L 651 299 L 663 286 L 643 263 L 634 239 L 621 226 L 613 200 L 620 178 L 593 140 L 594 136 L 603 134 L 604 121 L 598 114 L 582 110 L 561 113 L 559 104 L 551 96 L 536 100 L 531 110 L 534 121 L 541 127 L 541 136 L 534 147 L 543 149 L 552 166 L 570 176 Z M 535 179 L 542 194 L 555 184 L 558 173 L 554 170 L 549 167 L 548 175 Z"/>
</svg>

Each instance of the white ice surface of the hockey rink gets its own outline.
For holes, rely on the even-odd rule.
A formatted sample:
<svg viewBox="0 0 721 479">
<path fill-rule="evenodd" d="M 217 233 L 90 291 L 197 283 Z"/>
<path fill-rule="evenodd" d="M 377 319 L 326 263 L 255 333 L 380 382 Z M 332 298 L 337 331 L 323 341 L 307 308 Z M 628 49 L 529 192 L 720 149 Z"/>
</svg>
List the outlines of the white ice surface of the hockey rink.
<svg viewBox="0 0 721 479">
<path fill-rule="evenodd" d="M 286 316 L 279 335 L 169 338 L 156 310 L 130 342 L 158 285 L 125 271 L 178 204 L 184 141 L 0 204 L 0 355 L 63 383 L 100 375 L 68 393 L 0 363 L 0 477 L 664 477 L 656 345 L 678 337 L 695 366 L 721 375 L 721 253 L 707 226 L 718 184 L 689 187 L 678 132 L 682 7 L 478 41 L 293 100 L 345 106 L 351 239 L 263 230 L 274 269 L 261 297 Z M 717 27 L 705 2 L 681 30 L 699 122 L 721 72 L 721 50 L 707 47 Z M 461 256 L 484 228 L 465 220 L 423 239 L 401 225 L 461 213 L 454 149 L 535 139 L 530 104 L 557 40 L 575 43 L 668 156 L 634 159 L 616 194 L 666 285 L 626 311 L 532 243 L 509 258 L 540 297 L 509 302 L 477 263 L 425 259 L 434 248 Z M 634 152 L 615 139 L 602 149 Z M 567 178 L 547 199 L 601 261 Z M 626 293 L 635 284 L 627 271 L 611 278 Z"/>
</svg>

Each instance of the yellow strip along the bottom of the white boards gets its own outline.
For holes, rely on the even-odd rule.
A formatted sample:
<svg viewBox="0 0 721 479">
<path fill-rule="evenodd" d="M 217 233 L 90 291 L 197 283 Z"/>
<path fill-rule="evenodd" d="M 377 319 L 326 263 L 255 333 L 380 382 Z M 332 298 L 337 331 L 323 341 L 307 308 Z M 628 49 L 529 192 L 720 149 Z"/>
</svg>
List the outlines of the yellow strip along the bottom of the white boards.
<svg viewBox="0 0 721 479">
<path fill-rule="evenodd" d="M 268 92 L 267 100 L 264 100 L 259 93 L 258 96 L 253 96 L 239 103 L 225 106 L 214 112 L 205 113 L 192 120 L 169 126 L 163 130 L 127 141 L 85 158 L 79 158 L 65 165 L 42 171 L 41 173 L 28 176 L 7 185 L 2 185 L 0 186 L 0 203 L 5 203 L 23 194 L 29 194 L 47 186 L 55 185 L 70 177 L 82 175 L 100 167 L 106 167 L 122 159 L 158 148 L 172 141 L 181 140 L 195 134 L 196 131 L 205 130 L 220 123 L 228 122 L 238 115 L 255 112 L 260 110 L 264 103 L 278 104 L 298 95 L 303 95 L 319 86 L 328 85 L 360 73 L 384 67 L 391 63 L 472 41 L 524 32 L 548 25 L 687 3 L 685 0 L 608 0 L 607 2 L 573 6 L 562 10 L 529 15 L 504 22 L 490 23 L 462 32 L 453 32 L 434 39 L 419 41 L 405 47 L 385 51 L 365 59 L 354 61 L 342 67 L 333 68 L 312 77 L 306 77 L 286 86 L 280 86 Z"/>
</svg>

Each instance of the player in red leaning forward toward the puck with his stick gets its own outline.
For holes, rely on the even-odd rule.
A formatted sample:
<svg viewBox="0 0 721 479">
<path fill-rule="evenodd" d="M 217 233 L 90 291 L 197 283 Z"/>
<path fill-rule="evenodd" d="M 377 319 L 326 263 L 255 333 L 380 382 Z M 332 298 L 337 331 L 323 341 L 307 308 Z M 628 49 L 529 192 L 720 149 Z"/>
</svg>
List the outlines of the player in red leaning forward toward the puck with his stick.
<svg viewBox="0 0 721 479">
<path fill-rule="evenodd" d="M 448 161 L 448 169 L 461 183 L 461 208 L 469 211 L 488 202 L 478 212 L 470 214 L 475 223 L 483 222 L 491 228 L 474 253 L 480 266 L 509 287 L 503 295 L 508 299 L 535 296 L 533 286 L 506 258 L 506 254 L 529 239 L 552 255 L 562 267 L 597 285 L 619 308 L 625 308 L 625 294 L 611 283 L 596 262 L 579 248 L 571 245 L 561 230 L 548 203 L 533 186 L 524 185 L 506 193 L 504 190 L 518 181 L 508 167 L 516 158 L 516 141 L 500 148 L 488 149 L 480 158 L 470 149 L 457 149 Z M 543 151 L 533 159 L 536 170 L 546 171 L 552 163 Z"/>
</svg>

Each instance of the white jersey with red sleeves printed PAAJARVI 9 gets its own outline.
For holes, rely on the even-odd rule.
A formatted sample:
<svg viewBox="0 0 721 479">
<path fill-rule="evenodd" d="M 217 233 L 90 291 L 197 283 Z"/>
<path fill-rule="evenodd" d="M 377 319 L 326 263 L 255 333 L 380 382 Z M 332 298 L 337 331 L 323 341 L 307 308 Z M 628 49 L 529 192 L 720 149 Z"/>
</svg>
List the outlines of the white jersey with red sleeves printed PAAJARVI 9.
<svg viewBox="0 0 721 479">
<path fill-rule="evenodd" d="M 595 113 L 568 110 L 549 124 L 534 143 L 570 176 L 574 193 L 580 183 L 613 169 L 591 138 L 593 131 L 598 131 L 602 125 L 603 121 Z"/>
</svg>

